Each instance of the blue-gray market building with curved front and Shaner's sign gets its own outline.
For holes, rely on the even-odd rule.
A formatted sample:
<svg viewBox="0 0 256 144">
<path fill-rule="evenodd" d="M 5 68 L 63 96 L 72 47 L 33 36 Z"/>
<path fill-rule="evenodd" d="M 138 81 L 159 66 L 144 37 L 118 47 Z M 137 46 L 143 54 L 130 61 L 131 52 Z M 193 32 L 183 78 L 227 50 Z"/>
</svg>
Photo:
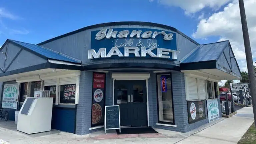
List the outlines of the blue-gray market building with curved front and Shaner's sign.
<svg viewBox="0 0 256 144">
<path fill-rule="evenodd" d="M 50 90 L 52 128 L 80 135 L 103 129 L 107 105 L 120 105 L 122 127 L 188 132 L 221 116 L 218 82 L 241 78 L 229 41 L 200 45 L 149 22 L 97 24 L 37 45 L 7 40 L 0 54 L 10 119 L 35 90 Z"/>
</svg>

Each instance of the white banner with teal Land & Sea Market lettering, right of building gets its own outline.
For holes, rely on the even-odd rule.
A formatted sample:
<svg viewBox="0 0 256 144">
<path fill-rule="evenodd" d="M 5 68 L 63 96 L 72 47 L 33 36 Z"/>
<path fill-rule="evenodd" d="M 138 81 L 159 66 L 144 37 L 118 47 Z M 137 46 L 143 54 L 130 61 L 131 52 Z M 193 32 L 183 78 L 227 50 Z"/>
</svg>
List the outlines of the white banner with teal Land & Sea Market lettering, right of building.
<svg viewBox="0 0 256 144">
<path fill-rule="evenodd" d="M 219 105 L 217 99 L 207 100 L 207 110 L 209 122 L 219 119 Z"/>
</svg>

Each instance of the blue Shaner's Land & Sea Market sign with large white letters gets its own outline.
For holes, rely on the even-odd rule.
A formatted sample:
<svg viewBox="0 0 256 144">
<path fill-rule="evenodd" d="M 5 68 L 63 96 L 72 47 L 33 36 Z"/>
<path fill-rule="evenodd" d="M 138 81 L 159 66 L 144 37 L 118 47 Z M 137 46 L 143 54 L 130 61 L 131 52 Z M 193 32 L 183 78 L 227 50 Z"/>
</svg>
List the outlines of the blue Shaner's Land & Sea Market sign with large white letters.
<svg viewBox="0 0 256 144">
<path fill-rule="evenodd" d="M 88 59 L 147 57 L 177 59 L 176 34 L 145 28 L 102 29 L 91 32 Z"/>
</svg>

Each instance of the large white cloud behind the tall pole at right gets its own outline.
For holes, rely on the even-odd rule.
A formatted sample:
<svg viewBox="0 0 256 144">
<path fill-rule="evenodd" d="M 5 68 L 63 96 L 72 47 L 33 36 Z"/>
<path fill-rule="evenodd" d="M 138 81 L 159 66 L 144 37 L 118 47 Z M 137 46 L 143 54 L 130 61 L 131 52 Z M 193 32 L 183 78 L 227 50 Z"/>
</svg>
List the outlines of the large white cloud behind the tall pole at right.
<svg viewBox="0 0 256 144">
<path fill-rule="evenodd" d="M 256 58 L 256 1 L 244 2 L 248 31 L 253 58 Z M 219 41 L 229 40 L 238 61 L 241 71 L 247 71 L 244 51 L 242 25 L 238 0 L 229 3 L 222 11 L 213 13 L 210 17 L 202 19 L 197 30 L 192 35 L 194 38 L 208 38 L 219 36 Z"/>
</svg>

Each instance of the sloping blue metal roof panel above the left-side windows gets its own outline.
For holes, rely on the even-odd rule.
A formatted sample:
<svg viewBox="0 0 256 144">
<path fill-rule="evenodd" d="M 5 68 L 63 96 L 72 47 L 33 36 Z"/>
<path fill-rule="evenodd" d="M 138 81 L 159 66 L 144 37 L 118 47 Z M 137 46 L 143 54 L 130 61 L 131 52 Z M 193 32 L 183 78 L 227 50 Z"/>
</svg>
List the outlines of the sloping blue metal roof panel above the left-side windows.
<svg viewBox="0 0 256 144">
<path fill-rule="evenodd" d="M 75 58 L 66 56 L 64 54 L 58 53 L 54 50 L 48 49 L 43 46 L 19 42 L 19 41 L 15 41 L 15 40 L 10 40 L 10 41 L 12 41 L 18 45 L 21 45 L 29 50 L 32 50 L 32 51 L 38 53 L 39 55 L 46 57 L 47 59 L 54 59 L 54 60 L 59 60 L 59 61 L 71 62 L 71 63 L 81 63 L 81 60 L 77 60 Z"/>
</svg>

